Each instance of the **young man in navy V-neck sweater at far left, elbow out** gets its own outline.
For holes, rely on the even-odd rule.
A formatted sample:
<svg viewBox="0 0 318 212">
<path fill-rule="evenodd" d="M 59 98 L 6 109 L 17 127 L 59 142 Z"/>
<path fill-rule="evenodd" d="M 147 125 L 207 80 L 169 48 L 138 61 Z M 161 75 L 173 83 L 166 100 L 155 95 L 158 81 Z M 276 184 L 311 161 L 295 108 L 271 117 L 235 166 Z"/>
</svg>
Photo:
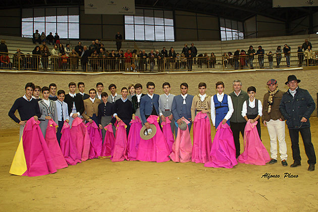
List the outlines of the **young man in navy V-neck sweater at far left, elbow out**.
<svg viewBox="0 0 318 212">
<path fill-rule="evenodd" d="M 41 117 L 39 104 L 36 99 L 32 98 L 34 87 L 32 82 L 28 82 L 25 85 L 25 94 L 15 100 L 8 114 L 13 121 L 20 125 L 20 140 L 25 123 L 32 117 L 34 117 L 35 121 Z M 17 110 L 21 120 L 14 114 Z"/>
</svg>

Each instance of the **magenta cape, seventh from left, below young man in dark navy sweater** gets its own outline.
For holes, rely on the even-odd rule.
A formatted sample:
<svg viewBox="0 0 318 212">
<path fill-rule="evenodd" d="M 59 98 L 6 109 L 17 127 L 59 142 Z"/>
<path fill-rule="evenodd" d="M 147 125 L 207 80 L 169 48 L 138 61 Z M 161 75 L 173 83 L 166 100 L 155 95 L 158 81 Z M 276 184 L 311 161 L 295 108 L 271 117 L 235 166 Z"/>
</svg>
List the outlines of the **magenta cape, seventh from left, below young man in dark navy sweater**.
<svg viewBox="0 0 318 212">
<path fill-rule="evenodd" d="M 112 155 L 112 162 L 121 162 L 125 159 L 128 160 L 127 156 L 127 132 L 125 123 L 120 121 L 117 124 L 114 152 Z"/>
</svg>

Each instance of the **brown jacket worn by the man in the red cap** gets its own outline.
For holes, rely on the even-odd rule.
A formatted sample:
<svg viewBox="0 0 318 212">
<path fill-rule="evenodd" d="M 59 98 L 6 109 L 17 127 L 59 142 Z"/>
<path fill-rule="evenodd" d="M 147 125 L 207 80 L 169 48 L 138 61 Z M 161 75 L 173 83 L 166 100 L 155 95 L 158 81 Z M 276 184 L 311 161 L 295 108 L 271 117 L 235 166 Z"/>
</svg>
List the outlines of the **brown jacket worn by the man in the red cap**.
<svg viewBox="0 0 318 212">
<path fill-rule="evenodd" d="M 274 121 L 278 120 L 278 119 L 284 120 L 284 117 L 279 110 L 279 104 L 281 103 L 281 99 L 283 97 L 283 94 L 284 94 L 284 92 L 281 90 L 278 90 L 277 93 L 275 93 L 271 113 L 269 114 L 268 113 L 268 110 L 269 110 L 268 101 L 269 101 L 270 92 L 265 93 L 264 100 L 263 100 L 262 121 L 269 122 L 271 119 L 273 119 Z"/>
</svg>

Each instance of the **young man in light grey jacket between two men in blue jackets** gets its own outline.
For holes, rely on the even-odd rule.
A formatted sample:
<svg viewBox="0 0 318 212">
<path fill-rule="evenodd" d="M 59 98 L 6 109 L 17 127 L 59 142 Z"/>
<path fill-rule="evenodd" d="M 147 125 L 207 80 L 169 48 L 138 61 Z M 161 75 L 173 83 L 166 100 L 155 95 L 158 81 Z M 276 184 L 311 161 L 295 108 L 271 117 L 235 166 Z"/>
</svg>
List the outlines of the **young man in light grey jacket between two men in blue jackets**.
<svg viewBox="0 0 318 212">
<path fill-rule="evenodd" d="M 171 109 L 172 109 L 172 102 L 175 95 L 170 93 L 171 86 L 169 82 L 164 82 L 163 90 L 165 93 L 159 96 L 159 116 L 161 118 L 161 122 L 165 122 L 166 117 L 169 118 L 169 120 L 171 121 L 171 124 L 170 124 L 171 130 L 172 130 L 172 133 L 174 133 L 175 123 L 173 121 L 173 115 L 172 115 Z"/>
</svg>

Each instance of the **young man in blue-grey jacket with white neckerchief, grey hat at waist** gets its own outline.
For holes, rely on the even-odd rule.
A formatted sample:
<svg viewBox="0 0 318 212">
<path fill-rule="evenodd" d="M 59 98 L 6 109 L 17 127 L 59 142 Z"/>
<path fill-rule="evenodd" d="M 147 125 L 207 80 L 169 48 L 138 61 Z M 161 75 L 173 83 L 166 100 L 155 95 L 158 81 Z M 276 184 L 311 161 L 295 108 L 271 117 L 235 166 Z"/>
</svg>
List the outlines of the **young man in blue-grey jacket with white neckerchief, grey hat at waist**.
<svg viewBox="0 0 318 212">
<path fill-rule="evenodd" d="M 181 94 L 177 95 L 173 98 L 172 102 L 172 115 L 175 119 L 176 125 L 181 124 L 181 118 L 184 117 L 190 122 L 191 120 L 191 105 L 192 105 L 192 99 L 193 95 L 188 94 L 188 84 L 187 83 L 181 83 L 180 90 Z M 191 129 L 192 123 L 189 124 L 189 131 Z M 178 128 L 177 128 L 178 129 Z M 177 136 L 177 132 L 176 132 Z"/>
</svg>

